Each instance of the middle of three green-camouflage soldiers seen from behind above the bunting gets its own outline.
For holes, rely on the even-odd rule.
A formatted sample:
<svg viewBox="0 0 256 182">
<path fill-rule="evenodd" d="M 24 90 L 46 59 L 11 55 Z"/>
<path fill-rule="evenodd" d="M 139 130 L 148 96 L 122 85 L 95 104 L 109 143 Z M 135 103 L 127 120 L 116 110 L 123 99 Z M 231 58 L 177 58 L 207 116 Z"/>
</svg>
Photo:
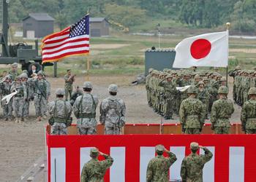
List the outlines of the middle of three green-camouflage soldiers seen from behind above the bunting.
<svg viewBox="0 0 256 182">
<path fill-rule="evenodd" d="M 232 100 L 227 99 L 228 88 L 219 87 L 219 100 L 216 100 L 211 108 L 211 130 L 215 134 L 228 134 L 230 129 L 230 117 L 234 112 Z"/>
</svg>

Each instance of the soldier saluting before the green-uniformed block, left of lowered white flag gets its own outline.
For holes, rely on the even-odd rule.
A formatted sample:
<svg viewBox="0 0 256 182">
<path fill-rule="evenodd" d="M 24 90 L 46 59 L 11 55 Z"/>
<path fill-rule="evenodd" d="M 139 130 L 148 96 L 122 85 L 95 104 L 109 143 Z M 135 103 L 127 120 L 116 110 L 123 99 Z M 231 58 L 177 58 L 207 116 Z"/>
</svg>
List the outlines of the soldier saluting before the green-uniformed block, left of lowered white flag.
<svg viewBox="0 0 256 182">
<path fill-rule="evenodd" d="M 163 87 L 164 94 L 163 99 L 165 100 L 165 119 L 173 119 L 173 101 L 175 96 L 178 94 L 176 84 L 172 82 L 173 76 L 168 74 L 165 79 L 159 82 L 159 87 Z"/>
</svg>

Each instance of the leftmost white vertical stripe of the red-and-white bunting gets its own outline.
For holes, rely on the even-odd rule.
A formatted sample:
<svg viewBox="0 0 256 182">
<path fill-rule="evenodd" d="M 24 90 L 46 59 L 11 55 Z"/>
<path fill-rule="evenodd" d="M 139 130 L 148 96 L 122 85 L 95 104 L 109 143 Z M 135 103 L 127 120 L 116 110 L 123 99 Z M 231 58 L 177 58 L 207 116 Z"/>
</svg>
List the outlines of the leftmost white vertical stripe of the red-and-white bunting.
<svg viewBox="0 0 256 182">
<path fill-rule="evenodd" d="M 65 181 L 66 181 L 66 149 L 50 148 L 50 182 L 65 182 Z"/>
</svg>

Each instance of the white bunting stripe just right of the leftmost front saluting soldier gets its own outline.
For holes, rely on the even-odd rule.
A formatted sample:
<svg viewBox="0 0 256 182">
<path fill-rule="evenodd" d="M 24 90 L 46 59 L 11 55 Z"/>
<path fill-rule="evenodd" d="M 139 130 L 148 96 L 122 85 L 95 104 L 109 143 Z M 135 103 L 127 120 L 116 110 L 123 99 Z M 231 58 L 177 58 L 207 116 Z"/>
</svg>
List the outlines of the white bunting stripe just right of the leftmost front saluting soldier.
<svg viewBox="0 0 256 182">
<path fill-rule="evenodd" d="M 111 147 L 110 156 L 114 162 L 110 167 L 110 182 L 125 181 L 125 147 Z"/>
</svg>

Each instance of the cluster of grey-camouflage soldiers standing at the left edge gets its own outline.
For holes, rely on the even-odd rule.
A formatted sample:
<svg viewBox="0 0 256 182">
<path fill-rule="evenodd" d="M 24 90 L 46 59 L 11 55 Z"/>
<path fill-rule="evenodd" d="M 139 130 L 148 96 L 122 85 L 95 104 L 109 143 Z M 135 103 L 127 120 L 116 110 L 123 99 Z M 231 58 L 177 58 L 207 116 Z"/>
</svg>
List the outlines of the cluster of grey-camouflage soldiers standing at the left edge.
<svg viewBox="0 0 256 182">
<path fill-rule="evenodd" d="M 0 81 L 1 98 L 13 93 L 8 101 L 1 101 L 4 119 L 24 122 L 29 116 L 29 105 L 34 101 L 37 121 L 41 121 L 47 115 L 46 106 L 50 97 L 50 83 L 45 79 L 44 71 L 29 75 L 25 70 L 18 74 L 18 63 L 13 63 L 11 68 L 9 73 L 4 71 Z"/>
</svg>

